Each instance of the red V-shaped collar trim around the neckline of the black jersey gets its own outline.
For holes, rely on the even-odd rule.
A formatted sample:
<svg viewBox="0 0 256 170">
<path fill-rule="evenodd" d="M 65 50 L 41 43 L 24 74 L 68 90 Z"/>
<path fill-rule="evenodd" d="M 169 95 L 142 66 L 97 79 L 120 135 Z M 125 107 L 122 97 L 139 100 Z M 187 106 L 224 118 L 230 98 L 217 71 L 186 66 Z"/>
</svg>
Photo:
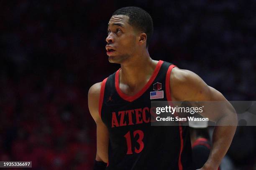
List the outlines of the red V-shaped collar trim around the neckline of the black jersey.
<svg viewBox="0 0 256 170">
<path fill-rule="evenodd" d="M 163 64 L 162 60 L 159 60 L 159 62 L 156 65 L 156 68 L 153 72 L 153 74 L 151 75 L 150 79 L 148 80 L 148 82 L 146 83 L 146 85 L 139 91 L 136 93 L 136 95 L 133 96 L 129 96 L 126 95 L 125 93 L 123 93 L 119 87 L 119 70 L 115 73 L 115 89 L 118 92 L 118 95 L 120 95 L 121 98 L 123 98 L 123 100 L 126 100 L 128 102 L 132 102 L 133 100 L 136 100 L 138 97 L 141 97 L 141 95 L 143 95 L 144 92 L 146 92 L 146 90 L 148 89 L 148 87 L 152 84 L 152 82 L 155 80 L 156 75 L 158 74 L 161 65 Z"/>
</svg>

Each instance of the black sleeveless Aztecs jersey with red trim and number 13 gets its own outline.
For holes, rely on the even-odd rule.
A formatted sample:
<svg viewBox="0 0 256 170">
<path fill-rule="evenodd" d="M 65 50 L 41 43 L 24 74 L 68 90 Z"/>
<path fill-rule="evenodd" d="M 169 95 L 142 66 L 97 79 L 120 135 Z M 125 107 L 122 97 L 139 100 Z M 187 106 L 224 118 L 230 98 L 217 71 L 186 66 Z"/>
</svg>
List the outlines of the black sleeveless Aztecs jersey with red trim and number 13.
<svg viewBox="0 0 256 170">
<path fill-rule="evenodd" d="M 103 80 L 99 113 L 110 135 L 107 170 L 192 170 L 188 127 L 151 126 L 150 122 L 151 101 L 171 100 L 173 67 L 160 60 L 134 96 L 120 90 L 120 69 Z"/>
</svg>

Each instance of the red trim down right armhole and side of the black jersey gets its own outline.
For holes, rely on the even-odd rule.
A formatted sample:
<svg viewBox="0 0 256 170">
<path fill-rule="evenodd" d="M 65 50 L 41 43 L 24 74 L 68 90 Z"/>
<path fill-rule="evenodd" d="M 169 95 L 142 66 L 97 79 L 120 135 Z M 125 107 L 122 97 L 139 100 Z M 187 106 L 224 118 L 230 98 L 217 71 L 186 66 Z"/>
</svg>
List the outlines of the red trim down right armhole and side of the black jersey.
<svg viewBox="0 0 256 170">
<path fill-rule="evenodd" d="M 170 92 L 170 75 L 172 72 L 172 69 L 174 67 L 177 67 L 176 65 L 170 65 L 165 78 L 165 92 L 166 92 L 166 98 L 168 101 L 172 101 L 171 92 Z M 183 137 L 182 137 L 182 126 L 179 125 L 179 138 L 180 138 L 180 152 L 179 152 L 179 170 L 183 170 L 182 162 L 181 162 L 181 155 L 183 151 Z"/>
</svg>

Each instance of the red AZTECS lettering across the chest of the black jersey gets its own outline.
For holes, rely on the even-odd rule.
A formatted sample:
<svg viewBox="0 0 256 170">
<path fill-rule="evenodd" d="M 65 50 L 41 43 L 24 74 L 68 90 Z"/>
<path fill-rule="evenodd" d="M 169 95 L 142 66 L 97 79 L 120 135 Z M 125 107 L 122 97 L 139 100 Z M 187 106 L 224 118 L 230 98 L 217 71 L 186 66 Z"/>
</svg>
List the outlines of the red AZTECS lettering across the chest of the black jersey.
<svg viewBox="0 0 256 170">
<path fill-rule="evenodd" d="M 128 125 L 136 125 L 151 122 L 151 116 L 156 117 L 155 108 L 138 108 L 112 112 L 112 128 Z"/>
</svg>

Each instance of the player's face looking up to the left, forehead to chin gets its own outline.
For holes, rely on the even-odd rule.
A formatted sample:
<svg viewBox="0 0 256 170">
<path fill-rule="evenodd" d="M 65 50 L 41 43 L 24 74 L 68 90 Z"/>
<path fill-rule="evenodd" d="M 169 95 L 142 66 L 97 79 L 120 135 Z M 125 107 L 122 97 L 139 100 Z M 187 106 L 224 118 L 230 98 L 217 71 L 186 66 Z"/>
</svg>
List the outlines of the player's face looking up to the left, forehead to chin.
<svg viewBox="0 0 256 170">
<path fill-rule="evenodd" d="M 109 20 L 106 38 L 109 62 L 121 64 L 136 51 L 136 31 L 128 21 L 125 15 L 113 15 Z"/>
</svg>

